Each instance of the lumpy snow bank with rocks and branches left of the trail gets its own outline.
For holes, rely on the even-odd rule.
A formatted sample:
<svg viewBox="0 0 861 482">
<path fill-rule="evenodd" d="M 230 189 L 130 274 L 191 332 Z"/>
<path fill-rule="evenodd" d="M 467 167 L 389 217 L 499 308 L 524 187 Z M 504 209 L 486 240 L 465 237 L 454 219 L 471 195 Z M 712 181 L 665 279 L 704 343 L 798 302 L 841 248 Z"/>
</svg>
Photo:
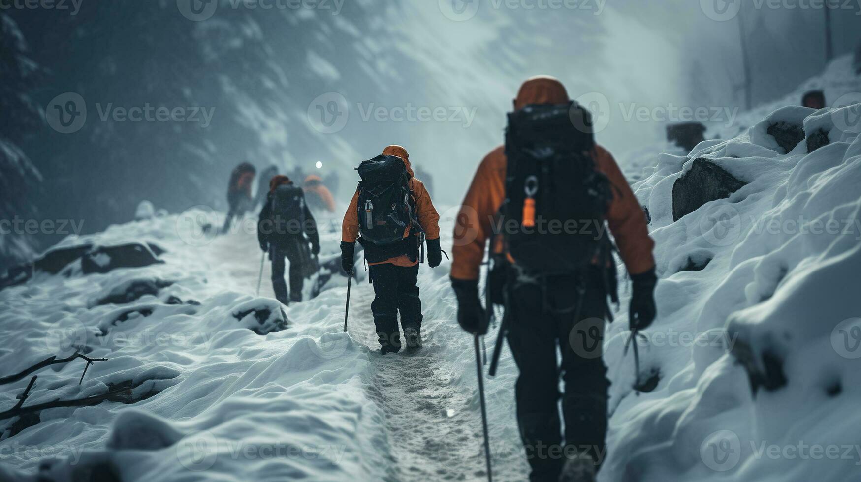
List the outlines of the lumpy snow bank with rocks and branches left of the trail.
<svg viewBox="0 0 861 482">
<path fill-rule="evenodd" d="M 164 263 L 37 274 L 0 292 L 0 377 L 51 355 L 108 358 L 80 385 L 83 360 L 41 369 L 25 406 L 127 387 L 121 403 L 0 420 L 0 480 L 380 479 L 388 449 L 368 394 L 378 355 L 342 333 L 345 287 L 288 309 L 272 299 L 267 263 L 255 296 L 254 236 L 195 238 L 188 215 L 59 244 L 150 242 Z M 323 250 L 338 250 L 337 233 Z M 2 386 L 0 411 L 29 379 Z"/>
</svg>

